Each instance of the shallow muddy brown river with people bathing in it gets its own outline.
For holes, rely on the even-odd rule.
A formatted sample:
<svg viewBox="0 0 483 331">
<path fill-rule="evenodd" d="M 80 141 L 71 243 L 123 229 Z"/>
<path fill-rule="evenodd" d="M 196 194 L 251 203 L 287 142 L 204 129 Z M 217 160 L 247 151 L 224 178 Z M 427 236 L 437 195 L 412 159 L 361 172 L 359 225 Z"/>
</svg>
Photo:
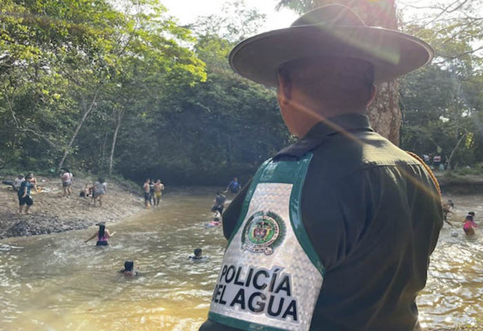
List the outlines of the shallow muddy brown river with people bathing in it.
<svg viewBox="0 0 483 331">
<path fill-rule="evenodd" d="M 212 189 L 175 190 L 157 210 L 107 228 L 110 246 L 83 243 L 96 229 L 0 241 L 0 330 L 197 330 L 206 319 L 226 240 Z M 453 196 L 457 214 L 483 214 L 483 197 Z M 458 223 L 460 224 L 460 223 Z M 451 237 L 457 230 L 458 237 Z M 444 226 L 418 298 L 424 326 L 482 318 L 482 237 Z M 190 261 L 193 249 L 208 259 Z M 135 261 L 139 277 L 117 272 Z"/>
</svg>

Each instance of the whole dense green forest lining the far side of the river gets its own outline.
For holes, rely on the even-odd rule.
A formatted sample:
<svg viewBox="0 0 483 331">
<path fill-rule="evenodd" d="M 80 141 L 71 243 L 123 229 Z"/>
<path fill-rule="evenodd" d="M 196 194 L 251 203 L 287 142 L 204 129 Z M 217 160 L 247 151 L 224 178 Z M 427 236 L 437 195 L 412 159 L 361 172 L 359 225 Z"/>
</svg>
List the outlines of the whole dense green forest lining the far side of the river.
<svg viewBox="0 0 483 331">
<path fill-rule="evenodd" d="M 303 12 L 333 1 L 273 1 Z M 372 2 L 390 3 L 388 0 Z M 0 0 L 0 170 L 92 174 L 171 184 L 248 178 L 291 141 L 275 91 L 237 76 L 233 46 L 266 17 L 243 0 L 180 26 L 158 0 Z M 413 8 L 399 29 L 435 48 L 394 83 L 399 143 L 441 153 L 449 170 L 483 161 L 483 8 Z M 418 11 L 420 13 L 418 14 Z M 397 131 L 399 132 L 399 131 Z M 397 141 L 396 141 L 397 142 Z"/>
</svg>

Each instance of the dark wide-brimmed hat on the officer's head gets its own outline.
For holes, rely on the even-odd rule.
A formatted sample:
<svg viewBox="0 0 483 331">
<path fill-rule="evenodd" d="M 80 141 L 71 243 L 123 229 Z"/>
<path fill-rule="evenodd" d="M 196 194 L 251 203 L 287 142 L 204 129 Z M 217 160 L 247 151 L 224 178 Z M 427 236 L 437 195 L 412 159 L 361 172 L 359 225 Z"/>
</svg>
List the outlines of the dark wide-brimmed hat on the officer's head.
<svg viewBox="0 0 483 331">
<path fill-rule="evenodd" d="M 366 26 L 351 8 L 340 4 L 307 12 L 290 28 L 257 34 L 230 53 L 230 65 L 243 77 L 277 86 L 282 63 L 311 57 L 348 57 L 374 66 L 375 83 L 407 74 L 433 58 L 421 39 L 386 28 Z"/>
</svg>

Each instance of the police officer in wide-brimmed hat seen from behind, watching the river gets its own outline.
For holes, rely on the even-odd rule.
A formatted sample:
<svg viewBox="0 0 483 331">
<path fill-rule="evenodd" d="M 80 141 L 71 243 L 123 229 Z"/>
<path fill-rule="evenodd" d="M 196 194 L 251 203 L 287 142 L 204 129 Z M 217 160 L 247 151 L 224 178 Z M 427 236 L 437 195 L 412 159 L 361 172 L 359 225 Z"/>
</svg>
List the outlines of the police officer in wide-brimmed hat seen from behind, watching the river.
<svg viewBox="0 0 483 331">
<path fill-rule="evenodd" d="M 422 162 L 373 132 L 374 83 L 433 51 L 328 5 L 239 43 L 231 66 L 277 86 L 299 141 L 257 170 L 224 213 L 228 245 L 200 331 L 420 330 L 442 228 L 439 186 Z"/>
</svg>

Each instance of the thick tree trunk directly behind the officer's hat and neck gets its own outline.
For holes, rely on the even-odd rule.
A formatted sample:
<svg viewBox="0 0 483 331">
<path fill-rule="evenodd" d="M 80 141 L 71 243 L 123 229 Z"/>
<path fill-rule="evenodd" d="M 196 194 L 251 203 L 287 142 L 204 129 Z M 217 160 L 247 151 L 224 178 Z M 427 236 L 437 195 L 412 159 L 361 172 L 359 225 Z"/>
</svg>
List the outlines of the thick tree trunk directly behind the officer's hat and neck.
<svg viewBox="0 0 483 331">
<path fill-rule="evenodd" d="M 277 8 L 286 7 L 302 14 L 328 3 L 342 3 L 353 8 L 368 26 L 397 29 L 394 0 L 280 0 Z M 397 81 L 377 86 L 377 94 L 368 108 L 368 116 L 376 132 L 399 145 L 402 116 L 398 104 Z"/>
</svg>

